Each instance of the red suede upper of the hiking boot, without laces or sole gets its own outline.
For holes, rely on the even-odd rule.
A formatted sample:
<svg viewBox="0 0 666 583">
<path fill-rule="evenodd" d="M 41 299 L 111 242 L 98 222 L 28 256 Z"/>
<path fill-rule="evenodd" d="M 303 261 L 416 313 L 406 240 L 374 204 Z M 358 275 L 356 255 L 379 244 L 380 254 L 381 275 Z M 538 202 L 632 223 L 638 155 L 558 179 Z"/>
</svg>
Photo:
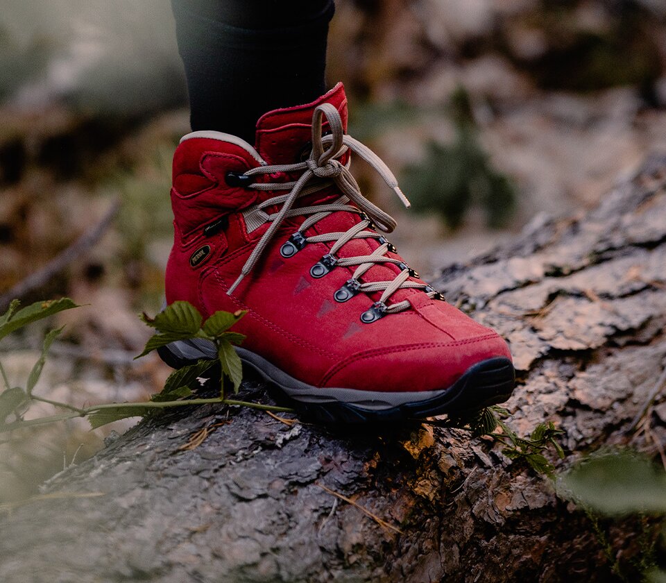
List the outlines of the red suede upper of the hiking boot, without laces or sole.
<svg viewBox="0 0 666 583">
<path fill-rule="evenodd" d="M 323 102 L 335 106 L 346 128 L 347 99 L 339 84 L 314 103 L 262 116 L 255 142 L 259 156 L 267 164 L 298 162 L 304 149 L 309 152 L 312 113 Z M 339 303 L 334 293 L 350 279 L 353 269 L 334 267 L 322 278 L 309 273 L 332 244 L 313 242 L 291 257 L 280 254 L 280 246 L 304 217 L 293 217 L 282 225 L 255 269 L 229 296 L 228 289 L 268 228 L 264 225 L 248 233 L 241 211 L 280 193 L 230 186 L 227 174 L 242 174 L 259 165 L 248 148 L 223 135 L 220 139 L 192 137 L 178 146 L 171 190 L 175 239 L 167 265 L 169 303 L 187 300 L 205 316 L 216 310 L 248 310 L 234 326 L 247 335 L 243 347 L 317 387 L 431 391 L 449 387 L 481 360 L 511 358 L 506 343 L 493 330 L 420 289 L 400 289 L 391 296 L 391 302 L 407 299 L 409 310 L 362 322 L 360 314 L 377 301 L 378 292 L 360 293 Z M 288 179 L 293 177 L 272 176 L 264 181 Z M 259 175 L 256 181 L 262 181 Z M 323 192 L 318 200 L 327 196 L 339 195 Z M 359 220 L 352 212 L 334 212 L 305 235 L 344 232 Z M 368 255 L 378 246 L 377 239 L 352 239 L 337 255 Z M 192 257 L 206 247 L 204 259 L 193 267 Z M 380 264 L 362 279 L 392 280 L 398 273 L 395 265 Z"/>
</svg>

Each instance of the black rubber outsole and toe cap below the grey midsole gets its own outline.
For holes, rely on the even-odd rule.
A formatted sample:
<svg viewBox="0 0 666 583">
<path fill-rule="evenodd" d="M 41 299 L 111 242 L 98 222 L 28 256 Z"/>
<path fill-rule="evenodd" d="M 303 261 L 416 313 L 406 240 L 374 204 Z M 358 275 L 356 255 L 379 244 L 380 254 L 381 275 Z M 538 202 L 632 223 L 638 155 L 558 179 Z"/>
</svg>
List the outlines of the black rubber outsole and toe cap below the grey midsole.
<svg viewBox="0 0 666 583">
<path fill-rule="evenodd" d="M 158 348 L 157 353 L 173 369 L 180 369 L 182 366 L 196 362 L 196 360 L 178 357 L 166 346 Z M 504 403 L 511 397 L 515 382 L 515 370 L 511 360 L 505 357 L 495 357 L 470 366 L 450 387 L 430 391 L 435 393 L 432 398 L 415 399 L 412 402 L 400 403 L 392 407 L 364 407 L 358 403 L 334 398 L 328 400 L 294 398 L 289 394 L 291 387 L 283 384 L 284 377 L 290 377 L 271 364 L 266 363 L 262 367 L 257 364 L 257 358 L 253 359 L 255 362 L 248 360 L 247 355 L 251 354 L 246 350 L 239 350 L 239 356 L 244 365 L 250 366 L 264 380 L 274 387 L 278 387 L 280 389 L 278 397 L 282 398 L 283 402 L 289 403 L 302 416 L 307 416 L 320 423 L 395 423 L 442 414 L 474 412 L 490 405 Z M 282 377 L 280 380 L 275 378 L 278 376 L 276 373 Z M 414 396 L 418 397 L 419 394 L 415 393 Z"/>
</svg>

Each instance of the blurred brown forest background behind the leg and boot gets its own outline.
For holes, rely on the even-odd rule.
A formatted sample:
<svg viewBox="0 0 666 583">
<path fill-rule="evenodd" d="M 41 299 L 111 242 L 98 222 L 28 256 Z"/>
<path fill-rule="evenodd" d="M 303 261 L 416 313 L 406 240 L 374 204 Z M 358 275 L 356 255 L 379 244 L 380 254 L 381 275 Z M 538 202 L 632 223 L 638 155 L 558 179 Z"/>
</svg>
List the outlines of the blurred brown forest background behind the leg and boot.
<svg viewBox="0 0 666 583">
<path fill-rule="evenodd" d="M 358 171 L 395 212 L 393 242 L 421 273 L 543 213 L 594 206 L 666 150 L 664 0 L 337 0 L 329 47 L 350 134 L 386 160 L 416 212 Z M 42 395 L 83 405 L 161 388 L 164 365 L 133 362 L 149 335 L 136 314 L 162 302 L 171 155 L 188 131 L 169 0 L 3 0 L 0 310 L 120 201 L 99 241 L 22 297 L 87 304 L 59 319 L 67 331 Z M 39 341 L 34 329 L 3 339 L 12 382 Z M 102 445 L 105 432 L 67 423 L 0 441 L 0 502 Z"/>
</svg>

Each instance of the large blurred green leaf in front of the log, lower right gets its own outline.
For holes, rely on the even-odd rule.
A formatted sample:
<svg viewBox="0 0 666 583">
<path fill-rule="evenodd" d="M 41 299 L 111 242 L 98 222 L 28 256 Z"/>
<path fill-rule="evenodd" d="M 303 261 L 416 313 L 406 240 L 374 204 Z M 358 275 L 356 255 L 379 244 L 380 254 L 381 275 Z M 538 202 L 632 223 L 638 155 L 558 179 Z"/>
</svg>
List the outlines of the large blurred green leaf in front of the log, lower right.
<svg viewBox="0 0 666 583">
<path fill-rule="evenodd" d="M 635 453 L 592 457 L 563 475 L 561 483 L 574 500 L 602 514 L 666 512 L 666 472 Z"/>
</svg>

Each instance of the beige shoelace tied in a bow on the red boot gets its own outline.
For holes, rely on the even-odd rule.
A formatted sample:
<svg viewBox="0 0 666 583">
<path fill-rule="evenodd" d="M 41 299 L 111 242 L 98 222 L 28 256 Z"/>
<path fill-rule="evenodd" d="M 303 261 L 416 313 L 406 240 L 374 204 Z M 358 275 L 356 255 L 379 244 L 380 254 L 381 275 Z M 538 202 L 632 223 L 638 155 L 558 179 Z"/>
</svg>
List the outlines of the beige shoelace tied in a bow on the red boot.
<svg viewBox="0 0 666 583">
<path fill-rule="evenodd" d="M 326 117 L 330 126 L 330 133 L 322 135 L 323 117 Z M 326 147 L 327 146 L 327 147 Z M 315 278 L 322 277 L 333 267 L 354 267 L 356 270 L 351 280 L 345 284 L 346 291 L 348 292 L 345 299 L 348 299 L 353 294 L 359 292 L 373 293 L 383 292 L 379 301 L 373 305 L 374 317 L 366 319 L 361 317 L 363 321 L 373 321 L 377 317 L 384 314 L 391 314 L 395 312 L 402 312 L 410 307 L 408 301 L 401 301 L 387 305 L 386 302 L 398 289 L 421 289 L 426 292 L 431 298 L 439 297 L 438 292 L 431 286 L 410 281 L 410 276 L 416 276 L 416 272 L 409 269 L 404 262 L 391 257 L 386 257 L 388 251 L 393 251 L 394 247 L 384 239 L 382 235 L 373 230 L 367 230 L 373 226 L 382 230 L 384 233 L 391 233 L 395 228 L 395 219 L 390 214 L 384 212 L 377 205 L 368 201 L 368 199 L 361 194 L 359 185 L 355 178 L 349 171 L 348 164 L 342 164 L 336 158 L 339 158 L 346 151 L 352 151 L 363 158 L 370 166 L 372 166 L 380 176 L 384 179 L 388 187 L 393 189 L 395 194 L 398 194 L 400 200 L 404 203 L 405 207 L 409 208 L 409 201 L 407 197 L 402 194 L 398 187 L 398 180 L 395 179 L 391 170 L 388 169 L 386 164 L 361 142 L 346 135 L 343 130 L 342 119 L 336 108 L 330 103 L 323 103 L 318 105 L 314 110 L 312 116 L 312 151 L 309 158 L 305 162 L 298 162 L 296 164 L 275 164 L 272 166 L 260 166 L 248 170 L 244 176 L 255 176 L 256 174 L 276 174 L 285 173 L 292 174 L 302 172 L 300 178 L 293 182 L 286 183 L 253 183 L 247 186 L 248 189 L 257 189 L 265 191 L 288 190 L 288 194 L 281 194 L 274 196 L 268 200 L 254 205 L 244 212 L 244 217 L 248 223 L 250 230 L 255 230 L 264 223 L 270 222 L 271 225 L 266 230 L 266 233 L 259 239 L 253 252 L 248 257 L 246 264 L 241 270 L 241 275 L 230 287 L 228 294 L 232 294 L 237 285 L 243 278 L 252 271 L 259 260 L 259 257 L 264 253 L 266 246 L 275 235 L 275 232 L 280 228 L 283 221 L 289 217 L 300 217 L 310 215 L 298 228 L 298 231 L 289 238 L 291 244 L 291 251 L 296 253 L 302 246 L 307 243 L 330 243 L 334 242 L 329 253 L 322 257 L 322 260 L 316 264 L 310 271 L 311 275 Z M 310 184 L 309 184 L 310 183 Z M 336 185 L 342 192 L 336 201 L 327 204 L 313 205 L 306 207 L 293 208 L 293 205 L 299 198 L 317 192 L 318 190 Z M 282 205 L 279 212 L 268 214 L 264 211 L 265 208 L 273 207 L 275 205 Z M 361 215 L 361 221 L 355 226 L 347 230 L 345 233 L 324 233 L 322 235 L 315 235 L 314 237 L 305 237 L 305 233 L 311 226 L 324 217 L 327 217 L 332 212 L 354 212 Z M 357 257 L 336 257 L 336 253 L 346 243 L 352 239 L 377 239 L 381 245 L 370 253 L 370 255 L 359 255 Z M 283 246 L 284 249 L 284 246 Z M 293 255 L 293 253 L 291 253 Z M 285 255 L 288 257 L 290 255 Z M 377 281 L 377 282 L 359 282 L 368 269 L 375 264 L 393 263 L 401 268 L 400 273 L 391 281 Z M 341 291 L 341 290 L 339 290 Z M 339 299 L 338 301 L 345 301 Z M 364 313 L 365 315 L 365 313 Z"/>
</svg>

